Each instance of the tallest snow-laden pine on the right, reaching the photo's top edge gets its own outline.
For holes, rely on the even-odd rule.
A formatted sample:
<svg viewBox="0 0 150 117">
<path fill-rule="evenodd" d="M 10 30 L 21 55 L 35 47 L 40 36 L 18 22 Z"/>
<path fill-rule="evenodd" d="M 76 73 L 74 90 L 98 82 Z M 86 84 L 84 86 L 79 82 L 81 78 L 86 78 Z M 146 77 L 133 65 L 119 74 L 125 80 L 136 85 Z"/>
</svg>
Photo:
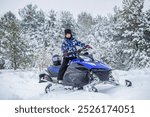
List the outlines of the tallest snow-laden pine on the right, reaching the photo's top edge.
<svg viewBox="0 0 150 117">
<path fill-rule="evenodd" d="M 143 4 L 144 0 L 123 0 L 123 9 L 115 16 L 114 39 L 122 48 L 118 53 L 122 53 L 121 60 L 127 69 L 144 67 L 149 61 L 143 37 Z"/>
</svg>

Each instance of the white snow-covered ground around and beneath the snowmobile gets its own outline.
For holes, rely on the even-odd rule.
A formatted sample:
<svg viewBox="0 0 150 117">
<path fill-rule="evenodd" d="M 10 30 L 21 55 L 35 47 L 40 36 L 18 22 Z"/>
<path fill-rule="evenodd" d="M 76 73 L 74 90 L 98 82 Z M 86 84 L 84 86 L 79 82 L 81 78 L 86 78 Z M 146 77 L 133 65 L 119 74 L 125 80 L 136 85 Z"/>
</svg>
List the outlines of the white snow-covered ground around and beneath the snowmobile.
<svg viewBox="0 0 150 117">
<path fill-rule="evenodd" d="M 81 100 L 150 100 L 150 68 L 130 71 L 114 71 L 122 86 L 111 85 L 97 86 L 99 92 L 68 91 L 58 88 L 49 94 L 44 93 L 47 83 L 38 83 L 39 71 L 0 71 L 0 99 L 10 100 L 47 100 L 47 99 L 81 99 Z M 133 82 L 132 87 L 125 87 L 124 80 Z"/>
</svg>

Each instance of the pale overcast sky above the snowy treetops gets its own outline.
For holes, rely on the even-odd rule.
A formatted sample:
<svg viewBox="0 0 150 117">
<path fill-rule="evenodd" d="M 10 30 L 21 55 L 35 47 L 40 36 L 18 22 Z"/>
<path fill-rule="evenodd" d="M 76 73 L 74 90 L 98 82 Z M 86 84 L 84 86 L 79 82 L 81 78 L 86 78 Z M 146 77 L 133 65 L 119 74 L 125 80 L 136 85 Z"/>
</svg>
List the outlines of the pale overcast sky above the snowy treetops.
<svg viewBox="0 0 150 117">
<path fill-rule="evenodd" d="M 145 0 L 145 9 L 150 9 L 150 0 Z M 7 11 L 12 11 L 16 15 L 18 9 L 22 9 L 27 4 L 36 4 L 39 9 L 45 12 L 51 9 L 56 11 L 67 10 L 76 17 L 82 11 L 87 11 L 92 15 L 106 16 L 113 13 L 115 5 L 121 6 L 122 0 L 0 0 L 0 16 Z"/>
</svg>

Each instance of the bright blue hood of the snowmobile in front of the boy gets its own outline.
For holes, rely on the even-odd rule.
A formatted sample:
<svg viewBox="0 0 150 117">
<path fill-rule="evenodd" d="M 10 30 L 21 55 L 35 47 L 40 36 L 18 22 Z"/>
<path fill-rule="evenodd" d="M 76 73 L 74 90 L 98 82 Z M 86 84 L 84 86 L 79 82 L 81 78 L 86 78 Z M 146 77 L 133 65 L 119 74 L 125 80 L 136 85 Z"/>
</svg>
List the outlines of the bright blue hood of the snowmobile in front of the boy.
<svg viewBox="0 0 150 117">
<path fill-rule="evenodd" d="M 74 59 L 72 61 L 73 63 L 78 63 L 80 65 L 85 66 L 87 69 L 103 69 L 103 70 L 112 70 L 109 68 L 106 64 L 98 61 L 98 62 L 89 62 L 89 61 L 83 61 L 79 59 Z"/>
</svg>

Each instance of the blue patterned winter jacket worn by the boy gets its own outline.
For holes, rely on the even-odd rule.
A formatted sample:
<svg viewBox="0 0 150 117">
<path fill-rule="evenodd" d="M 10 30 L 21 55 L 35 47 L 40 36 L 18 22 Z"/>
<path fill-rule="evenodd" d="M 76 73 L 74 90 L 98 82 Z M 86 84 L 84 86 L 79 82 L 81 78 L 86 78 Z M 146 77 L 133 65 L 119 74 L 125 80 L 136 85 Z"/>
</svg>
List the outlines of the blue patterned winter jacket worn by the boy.
<svg viewBox="0 0 150 117">
<path fill-rule="evenodd" d="M 81 43 L 80 41 L 78 41 L 77 39 L 75 39 L 75 37 L 72 37 L 71 39 L 64 39 L 62 46 L 61 46 L 61 50 L 63 53 L 65 52 L 73 52 L 73 54 L 66 56 L 67 58 L 69 57 L 77 57 L 77 53 L 75 51 L 77 51 L 76 46 L 80 46 L 82 48 L 85 47 L 84 43 Z"/>
</svg>

